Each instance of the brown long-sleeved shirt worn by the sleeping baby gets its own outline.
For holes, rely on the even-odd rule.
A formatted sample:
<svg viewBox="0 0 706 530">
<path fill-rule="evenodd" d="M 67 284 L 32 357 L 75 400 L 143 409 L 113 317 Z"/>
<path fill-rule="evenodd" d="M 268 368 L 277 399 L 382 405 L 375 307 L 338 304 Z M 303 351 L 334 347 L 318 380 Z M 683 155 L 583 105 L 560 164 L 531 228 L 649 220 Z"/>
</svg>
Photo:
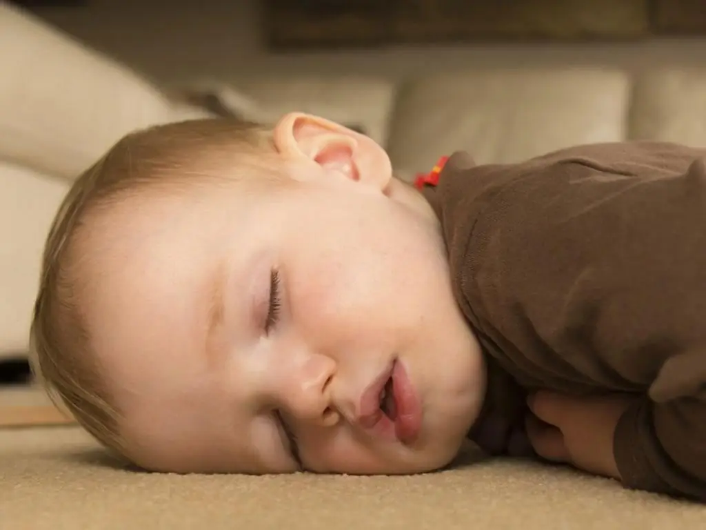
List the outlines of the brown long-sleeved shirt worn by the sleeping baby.
<svg viewBox="0 0 706 530">
<path fill-rule="evenodd" d="M 568 148 L 515 165 L 453 154 L 424 194 L 489 389 L 469 433 L 521 454 L 525 393 L 628 392 L 623 483 L 706 500 L 706 149 Z"/>
</svg>

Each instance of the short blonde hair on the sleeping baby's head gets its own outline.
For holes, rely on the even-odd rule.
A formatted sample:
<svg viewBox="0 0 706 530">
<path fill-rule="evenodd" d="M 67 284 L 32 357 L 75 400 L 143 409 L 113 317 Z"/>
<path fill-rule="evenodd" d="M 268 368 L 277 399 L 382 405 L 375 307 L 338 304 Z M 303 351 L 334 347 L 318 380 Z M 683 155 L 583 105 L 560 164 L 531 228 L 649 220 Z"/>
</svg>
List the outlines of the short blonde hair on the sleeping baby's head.
<svg viewBox="0 0 706 530">
<path fill-rule="evenodd" d="M 145 187 L 223 177 L 274 153 L 271 131 L 237 119 L 200 119 L 128 134 L 73 183 L 49 230 L 30 329 L 32 369 L 49 396 L 119 457 L 129 460 L 121 412 L 91 355 L 78 303 L 77 240 L 88 213 Z M 229 177 L 226 177 L 229 178 Z M 63 406 L 63 407 L 62 407 Z"/>
</svg>

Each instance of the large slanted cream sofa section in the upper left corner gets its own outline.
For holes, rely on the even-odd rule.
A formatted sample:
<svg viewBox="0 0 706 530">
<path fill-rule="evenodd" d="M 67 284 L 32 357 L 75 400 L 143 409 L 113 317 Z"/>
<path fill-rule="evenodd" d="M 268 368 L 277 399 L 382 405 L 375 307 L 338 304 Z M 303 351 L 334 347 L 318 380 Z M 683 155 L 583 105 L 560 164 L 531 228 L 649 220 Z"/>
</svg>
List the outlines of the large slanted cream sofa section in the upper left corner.
<svg viewBox="0 0 706 530">
<path fill-rule="evenodd" d="M 121 136 L 172 119 L 133 71 L 0 4 L 0 159 L 76 177 Z"/>
</svg>

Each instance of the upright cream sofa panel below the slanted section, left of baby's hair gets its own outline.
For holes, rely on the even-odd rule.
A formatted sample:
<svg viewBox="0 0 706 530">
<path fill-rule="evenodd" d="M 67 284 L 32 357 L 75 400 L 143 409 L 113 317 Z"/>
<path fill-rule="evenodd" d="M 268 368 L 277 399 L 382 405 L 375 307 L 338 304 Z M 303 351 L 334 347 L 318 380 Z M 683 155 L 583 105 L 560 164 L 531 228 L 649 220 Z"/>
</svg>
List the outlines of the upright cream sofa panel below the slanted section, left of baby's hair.
<svg viewBox="0 0 706 530">
<path fill-rule="evenodd" d="M 27 350 L 44 242 L 69 184 L 0 161 L 0 357 Z"/>
</svg>

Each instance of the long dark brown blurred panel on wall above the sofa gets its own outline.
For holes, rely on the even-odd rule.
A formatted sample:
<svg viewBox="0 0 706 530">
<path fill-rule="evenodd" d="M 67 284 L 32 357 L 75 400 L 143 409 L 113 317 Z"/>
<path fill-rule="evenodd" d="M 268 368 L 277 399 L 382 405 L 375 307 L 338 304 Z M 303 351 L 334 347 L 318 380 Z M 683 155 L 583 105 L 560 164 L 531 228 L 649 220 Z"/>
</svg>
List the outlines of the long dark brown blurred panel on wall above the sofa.
<svg viewBox="0 0 706 530">
<path fill-rule="evenodd" d="M 269 0 L 275 49 L 650 35 L 653 0 Z M 669 1 L 669 0 L 664 0 Z"/>
</svg>

